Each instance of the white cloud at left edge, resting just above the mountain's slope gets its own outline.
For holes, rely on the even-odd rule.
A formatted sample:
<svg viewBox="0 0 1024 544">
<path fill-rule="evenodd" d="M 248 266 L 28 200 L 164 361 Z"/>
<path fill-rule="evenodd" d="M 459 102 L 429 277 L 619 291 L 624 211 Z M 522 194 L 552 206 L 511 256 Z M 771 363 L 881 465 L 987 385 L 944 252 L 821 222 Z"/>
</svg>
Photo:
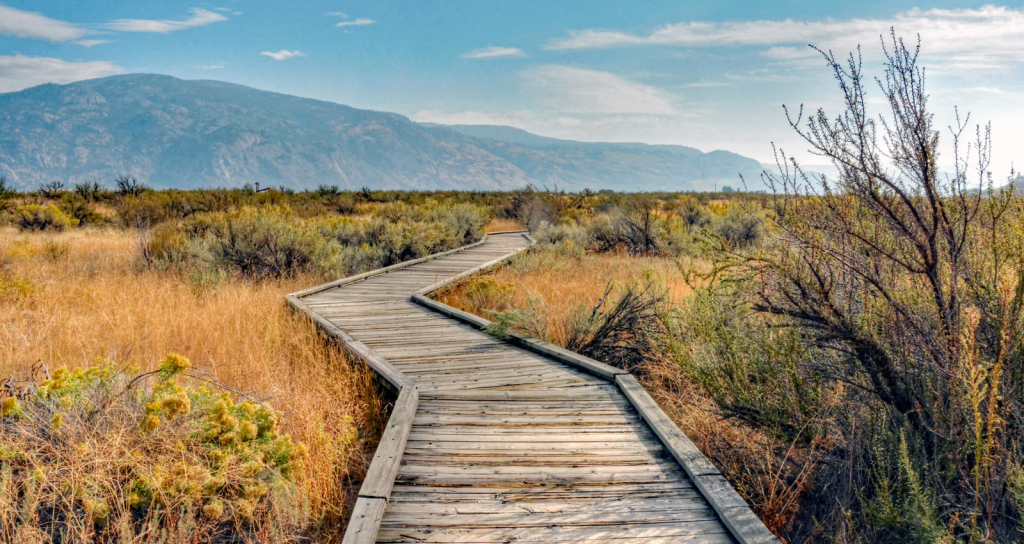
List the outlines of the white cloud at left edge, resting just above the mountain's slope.
<svg viewBox="0 0 1024 544">
<path fill-rule="evenodd" d="M 123 72 L 121 67 L 106 60 L 69 62 L 46 56 L 0 55 L 0 92 L 22 90 L 43 83 L 71 83 Z"/>
</svg>

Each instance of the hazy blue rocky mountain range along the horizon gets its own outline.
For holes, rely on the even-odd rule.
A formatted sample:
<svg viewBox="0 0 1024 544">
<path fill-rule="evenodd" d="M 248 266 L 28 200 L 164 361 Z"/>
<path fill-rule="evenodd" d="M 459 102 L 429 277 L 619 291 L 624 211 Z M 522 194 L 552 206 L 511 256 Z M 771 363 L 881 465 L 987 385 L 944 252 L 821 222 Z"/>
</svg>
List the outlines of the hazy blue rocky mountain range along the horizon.
<svg viewBox="0 0 1024 544">
<path fill-rule="evenodd" d="M 686 191 L 760 169 L 728 152 L 442 127 L 217 81 L 136 74 L 0 94 L 0 175 L 155 187 Z"/>
</svg>

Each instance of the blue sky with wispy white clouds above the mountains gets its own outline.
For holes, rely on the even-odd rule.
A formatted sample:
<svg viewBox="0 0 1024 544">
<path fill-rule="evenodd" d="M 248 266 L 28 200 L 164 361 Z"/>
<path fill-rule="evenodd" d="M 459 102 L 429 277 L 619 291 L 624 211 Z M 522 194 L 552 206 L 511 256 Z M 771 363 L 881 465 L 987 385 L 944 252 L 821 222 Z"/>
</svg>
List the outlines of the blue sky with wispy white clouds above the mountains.
<svg viewBox="0 0 1024 544">
<path fill-rule="evenodd" d="M 1024 2 L 937 0 L 295 1 L 0 0 L 0 92 L 123 73 L 213 79 L 586 141 L 674 143 L 774 162 L 822 159 L 782 106 L 840 112 L 813 44 L 913 42 L 952 163 L 948 126 L 991 122 L 996 180 L 1024 165 Z M 877 86 L 868 103 L 885 112 Z"/>
</svg>

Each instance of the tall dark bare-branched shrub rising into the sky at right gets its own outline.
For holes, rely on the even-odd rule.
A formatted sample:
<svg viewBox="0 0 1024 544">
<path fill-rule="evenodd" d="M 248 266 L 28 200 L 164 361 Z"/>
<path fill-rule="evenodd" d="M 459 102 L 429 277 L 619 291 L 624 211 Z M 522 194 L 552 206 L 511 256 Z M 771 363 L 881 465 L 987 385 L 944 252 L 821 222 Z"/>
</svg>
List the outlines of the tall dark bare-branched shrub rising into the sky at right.
<svg viewBox="0 0 1024 544">
<path fill-rule="evenodd" d="M 770 358 L 780 375 L 818 376 L 819 391 L 840 395 L 833 431 L 844 440 L 826 466 L 846 473 L 819 477 L 846 484 L 831 489 L 840 510 L 816 514 L 826 533 L 1013 541 L 1022 504 L 1008 493 L 1008 467 L 1024 456 L 1014 437 L 1024 425 L 1024 210 L 1012 187 L 992 189 L 987 127 L 969 144 L 957 118 L 954 171 L 939 171 L 920 45 L 895 35 L 883 45 L 877 82 L 888 112 L 878 118 L 859 57 L 822 53 L 846 109 L 791 122 L 839 178 L 805 174 L 782 156 L 781 172 L 766 174 L 776 189 L 771 242 L 753 252 L 723 246 L 712 278 L 753 286 L 746 300 L 760 319 L 795 327 L 820 353 L 787 366 Z M 733 381 L 762 387 L 752 370 Z"/>
</svg>

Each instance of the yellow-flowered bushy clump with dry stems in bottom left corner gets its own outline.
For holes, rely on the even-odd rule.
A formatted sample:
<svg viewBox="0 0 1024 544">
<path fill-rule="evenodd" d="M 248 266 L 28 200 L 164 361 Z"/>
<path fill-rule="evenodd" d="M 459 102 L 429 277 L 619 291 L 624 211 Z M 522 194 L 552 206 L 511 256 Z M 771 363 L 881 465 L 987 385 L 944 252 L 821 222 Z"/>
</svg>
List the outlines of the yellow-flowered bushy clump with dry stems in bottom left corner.
<svg viewBox="0 0 1024 544">
<path fill-rule="evenodd" d="M 187 359 L 35 371 L 0 405 L 5 542 L 281 542 L 303 521 L 280 415 Z"/>
</svg>

